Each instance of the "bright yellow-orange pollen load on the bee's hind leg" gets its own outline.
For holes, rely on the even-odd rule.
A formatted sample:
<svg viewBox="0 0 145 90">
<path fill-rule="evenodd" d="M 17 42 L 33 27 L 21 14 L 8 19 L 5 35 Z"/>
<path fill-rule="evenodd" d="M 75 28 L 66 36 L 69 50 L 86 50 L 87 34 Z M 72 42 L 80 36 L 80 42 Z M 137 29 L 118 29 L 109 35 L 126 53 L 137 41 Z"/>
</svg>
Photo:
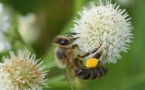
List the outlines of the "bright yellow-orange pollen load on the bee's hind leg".
<svg viewBox="0 0 145 90">
<path fill-rule="evenodd" d="M 86 62 L 86 67 L 87 68 L 93 68 L 96 67 L 98 65 L 99 60 L 96 58 L 90 58 L 87 60 Z"/>
</svg>

